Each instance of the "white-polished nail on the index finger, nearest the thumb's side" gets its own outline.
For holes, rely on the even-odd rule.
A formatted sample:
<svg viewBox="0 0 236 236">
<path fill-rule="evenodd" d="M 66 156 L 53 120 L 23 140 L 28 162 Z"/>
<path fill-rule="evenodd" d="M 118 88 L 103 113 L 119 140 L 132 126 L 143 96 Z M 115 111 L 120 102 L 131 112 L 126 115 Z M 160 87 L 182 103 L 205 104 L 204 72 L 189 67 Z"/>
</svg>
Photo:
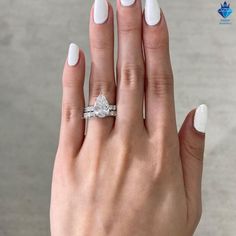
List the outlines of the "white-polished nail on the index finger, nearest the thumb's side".
<svg viewBox="0 0 236 236">
<path fill-rule="evenodd" d="M 148 25 L 154 26 L 161 19 L 161 9 L 157 0 L 146 0 L 145 20 Z"/>
</svg>

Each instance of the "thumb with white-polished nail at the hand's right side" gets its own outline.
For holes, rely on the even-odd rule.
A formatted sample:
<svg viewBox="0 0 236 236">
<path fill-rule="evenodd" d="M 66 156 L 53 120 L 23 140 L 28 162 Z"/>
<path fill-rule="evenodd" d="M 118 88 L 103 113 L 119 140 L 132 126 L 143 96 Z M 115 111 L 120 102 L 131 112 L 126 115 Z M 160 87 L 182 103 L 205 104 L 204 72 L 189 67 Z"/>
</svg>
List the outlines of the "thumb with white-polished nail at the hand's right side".
<svg viewBox="0 0 236 236">
<path fill-rule="evenodd" d="M 197 223 L 201 216 L 201 179 L 206 124 L 207 106 L 201 105 L 196 111 L 188 114 L 179 132 L 186 195 L 190 212 L 196 216 L 193 221 Z"/>
</svg>

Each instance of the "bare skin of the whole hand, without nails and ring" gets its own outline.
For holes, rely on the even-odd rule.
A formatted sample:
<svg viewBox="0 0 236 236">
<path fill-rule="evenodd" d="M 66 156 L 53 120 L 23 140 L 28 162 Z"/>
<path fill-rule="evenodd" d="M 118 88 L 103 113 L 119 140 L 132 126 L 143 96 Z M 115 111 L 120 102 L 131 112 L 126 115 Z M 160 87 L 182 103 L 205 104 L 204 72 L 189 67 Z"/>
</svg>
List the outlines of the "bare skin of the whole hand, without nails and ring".
<svg viewBox="0 0 236 236">
<path fill-rule="evenodd" d="M 76 66 L 65 63 L 51 235 L 193 235 L 201 216 L 205 135 L 193 127 L 195 110 L 177 132 L 164 15 L 148 26 L 139 0 L 126 8 L 117 1 L 117 83 L 113 22 L 110 5 L 101 25 L 92 8 L 89 101 L 102 92 L 118 115 L 89 120 L 86 136 L 83 51 Z"/>
</svg>

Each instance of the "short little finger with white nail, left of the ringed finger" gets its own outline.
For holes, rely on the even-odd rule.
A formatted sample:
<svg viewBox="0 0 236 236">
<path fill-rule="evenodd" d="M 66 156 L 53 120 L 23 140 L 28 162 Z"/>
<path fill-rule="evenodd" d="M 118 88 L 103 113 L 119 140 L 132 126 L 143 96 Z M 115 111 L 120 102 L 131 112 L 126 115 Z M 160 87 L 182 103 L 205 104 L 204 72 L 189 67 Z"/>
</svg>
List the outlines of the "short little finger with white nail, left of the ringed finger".
<svg viewBox="0 0 236 236">
<path fill-rule="evenodd" d="M 77 45 L 71 44 L 63 72 L 63 99 L 60 148 L 75 157 L 84 139 L 84 74 L 85 57 Z"/>
</svg>

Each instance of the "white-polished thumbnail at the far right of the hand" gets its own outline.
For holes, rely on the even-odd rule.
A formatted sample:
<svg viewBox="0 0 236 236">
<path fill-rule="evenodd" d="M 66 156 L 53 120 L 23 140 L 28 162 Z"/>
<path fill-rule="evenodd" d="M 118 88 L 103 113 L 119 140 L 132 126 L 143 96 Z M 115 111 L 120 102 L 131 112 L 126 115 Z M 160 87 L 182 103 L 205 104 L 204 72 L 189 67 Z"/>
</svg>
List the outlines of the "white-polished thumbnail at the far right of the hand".
<svg viewBox="0 0 236 236">
<path fill-rule="evenodd" d="M 194 116 L 194 128 L 201 132 L 206 132 L 206 126 L 207 126 L 207 118 L 208 118 L 208 108 L 205 104 L 200 105 Z"/>
</svg>

